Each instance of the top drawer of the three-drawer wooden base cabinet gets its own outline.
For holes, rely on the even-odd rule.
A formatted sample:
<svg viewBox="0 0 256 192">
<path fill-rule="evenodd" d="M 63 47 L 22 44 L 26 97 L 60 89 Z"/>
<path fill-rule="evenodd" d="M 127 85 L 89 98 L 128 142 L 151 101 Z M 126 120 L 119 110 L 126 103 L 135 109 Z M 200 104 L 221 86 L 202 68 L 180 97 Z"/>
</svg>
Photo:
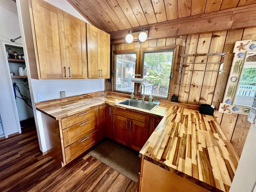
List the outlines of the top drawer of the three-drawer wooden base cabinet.
<svg viewBox="0 0 256 192">
<path fill-rule="evenodd" d="M 61 120 L 61 124 L 62 124 L 62 129 L 65 129 L 67 127 L 70 127 L 74 124 L 80 123 L 86 119 L 92 118 L 94 116 L 98 115 L 98 108 L 93 108 L 93 109 L 89 109 L 86 110 L 84 112 L 69 116 L 67 118 L 63 118 Z"/>
</svg>

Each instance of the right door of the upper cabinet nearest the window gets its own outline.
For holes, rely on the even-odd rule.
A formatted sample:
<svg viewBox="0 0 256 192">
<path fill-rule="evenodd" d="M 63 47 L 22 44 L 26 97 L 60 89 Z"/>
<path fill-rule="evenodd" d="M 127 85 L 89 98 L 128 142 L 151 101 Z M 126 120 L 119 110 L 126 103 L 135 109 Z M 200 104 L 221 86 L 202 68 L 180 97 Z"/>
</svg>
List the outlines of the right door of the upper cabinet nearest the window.
<svg viewBox="0 0 256 192">
<path fill-rule="evenodd" d="M 98 65 L 100 78 L 110 78 L 110 34 L 98 30 Z"/>
</svg>

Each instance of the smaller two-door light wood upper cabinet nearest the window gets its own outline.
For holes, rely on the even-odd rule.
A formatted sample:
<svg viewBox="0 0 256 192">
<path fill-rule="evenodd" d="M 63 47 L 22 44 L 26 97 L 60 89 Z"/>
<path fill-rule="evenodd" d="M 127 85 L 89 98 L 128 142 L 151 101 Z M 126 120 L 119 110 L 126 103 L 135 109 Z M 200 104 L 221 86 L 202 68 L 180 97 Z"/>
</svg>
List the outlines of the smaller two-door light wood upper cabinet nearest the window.
<svg viewBox="0 0 256 192">
<path fill-rule="evenodd" d="M 88 78 L 110 78 L 110 34 L 86 24 Z"/>
</svg>

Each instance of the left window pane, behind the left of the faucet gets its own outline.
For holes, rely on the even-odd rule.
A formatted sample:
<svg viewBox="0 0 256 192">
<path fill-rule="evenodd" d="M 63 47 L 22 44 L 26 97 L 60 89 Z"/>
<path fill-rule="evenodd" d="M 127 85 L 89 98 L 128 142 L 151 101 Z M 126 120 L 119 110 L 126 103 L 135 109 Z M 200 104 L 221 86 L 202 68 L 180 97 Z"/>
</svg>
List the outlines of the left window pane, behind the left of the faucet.
<svg viewBox="0 0 256 192">
<path fill-rule="evenodd" d="M 115 54 L 115 88 L 116 91 L 134 92 L 136 53 Z"/>
</svg>

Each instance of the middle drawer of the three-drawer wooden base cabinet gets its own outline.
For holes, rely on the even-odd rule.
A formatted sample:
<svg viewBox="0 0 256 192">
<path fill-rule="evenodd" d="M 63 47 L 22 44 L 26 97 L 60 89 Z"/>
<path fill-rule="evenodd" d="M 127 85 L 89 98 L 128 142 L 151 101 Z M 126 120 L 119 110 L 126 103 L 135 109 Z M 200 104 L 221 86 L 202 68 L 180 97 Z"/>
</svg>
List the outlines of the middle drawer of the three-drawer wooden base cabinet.
<svg viewBox="0 0 256 192">
<path fill-rule="evenodd" d="M 97 116 L 92 117 L 62 130 L 64 147 L 95 131 L 97 127 L 96 118 Z"/>
</svg>

